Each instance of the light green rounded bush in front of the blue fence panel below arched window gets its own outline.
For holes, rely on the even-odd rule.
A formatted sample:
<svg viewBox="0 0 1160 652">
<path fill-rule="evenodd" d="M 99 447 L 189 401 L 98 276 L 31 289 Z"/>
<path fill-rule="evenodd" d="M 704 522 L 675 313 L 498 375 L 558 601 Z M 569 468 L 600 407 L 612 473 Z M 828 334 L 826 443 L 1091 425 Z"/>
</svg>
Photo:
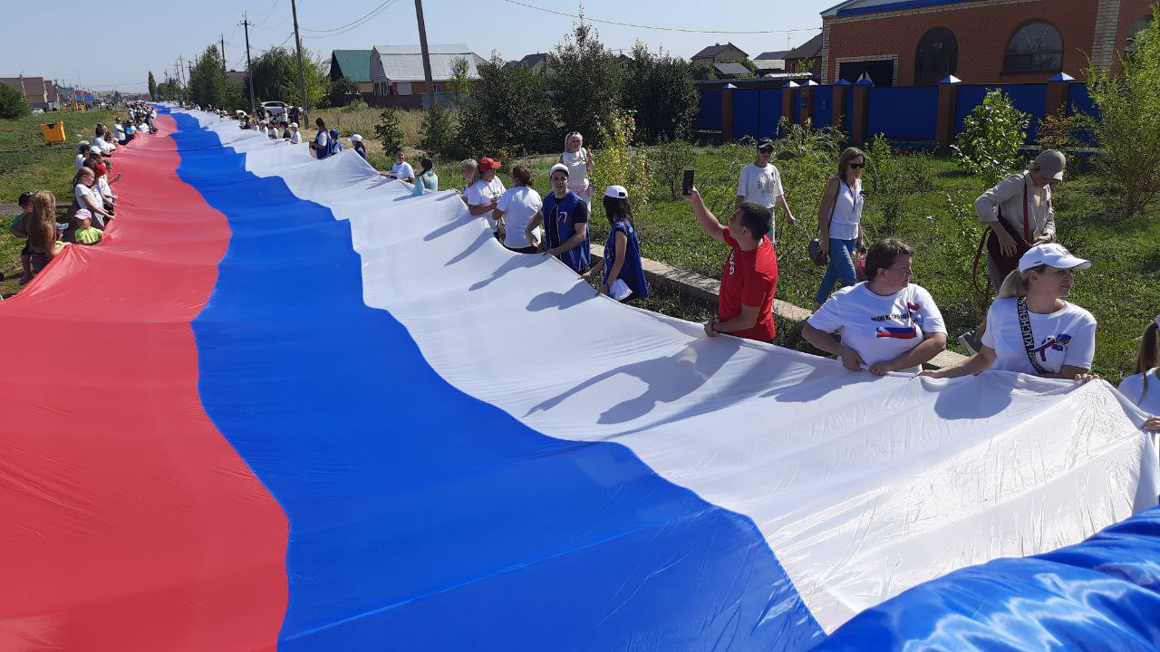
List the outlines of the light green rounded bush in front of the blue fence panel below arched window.
<svg viewBox="0 0 1160 652">
<path fill-rule="evenodd" d="M 1027 140 L 1031 116 L 1012 106 L 999 88 L 987 90 L 983 103 L 963 118 L 963 132 L 951 150 L 959 168 L 995 183 L 1021 165 L 1018 148 Z"/>
</svg>

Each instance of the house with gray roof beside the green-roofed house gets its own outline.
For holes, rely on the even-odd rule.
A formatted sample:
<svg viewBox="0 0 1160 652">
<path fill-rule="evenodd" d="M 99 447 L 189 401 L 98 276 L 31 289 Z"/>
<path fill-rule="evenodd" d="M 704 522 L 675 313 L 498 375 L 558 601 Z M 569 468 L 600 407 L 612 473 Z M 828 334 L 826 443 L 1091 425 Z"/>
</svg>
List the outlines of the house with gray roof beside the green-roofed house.
<svg viewBox="0 0 1160 652">
<path fill-rule="evenodd" d="M 436 100 L 445 95 L 457 59 L 467 61 L 467 78 L 479 79 L 485 59 L 462 43 L 427 46 Z M 376 106 L 420 108 L 427 94 L 423 56 L 419 45 L 376 45 L 370 53 L 370 81 Z"/>
</svg>

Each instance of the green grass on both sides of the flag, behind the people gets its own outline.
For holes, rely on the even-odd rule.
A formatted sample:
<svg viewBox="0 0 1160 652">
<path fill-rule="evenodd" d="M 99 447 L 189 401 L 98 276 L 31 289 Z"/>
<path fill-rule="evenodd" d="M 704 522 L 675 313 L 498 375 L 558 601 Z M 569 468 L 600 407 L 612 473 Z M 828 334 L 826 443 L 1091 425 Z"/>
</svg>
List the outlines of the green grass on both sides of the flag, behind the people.
<svg viewBox="0 0 1160 652">
<path fill-rule="evenodd" d="M 374 140 L 374 123 L 378 111 L 360 108 L 353 111 L 328 109 L 316 111 L 327 124 L 340 129 L 343 137 L 358 132 L 368 138 L 370 160 L 376 167 L 387 168 L 391 160 L 383 155 Z M 407 139 L 418 139 L 421 114 L 404 111 L 404 131 Z M 111 122 L 111 114 L 93 111 L 67 114 L 64 119 L 71 142 L 73 133 L 92 133 L 96 122 Z M 73 173 L 72 147 L 45 147 L 41 143 L 39 123 L 51 122 L 52 116 L 32 116 L 21 121 L 0 121 L 0 150 L 5 151 L 0 165 L 0 203 L 14 202 L 26 188 L 48 187 L 58 196 L 70 194 Z M 409 160 L 419 167 L 420 152 L 408 150 Z M 904 162 L 921 171 L 922 179 L 914 183 L 912 191 L 896 193 L 891 197 L 875 196 L 867 200 L 864 229 L 868 241 L 893 236 L 909 242 L 916 249 L 915 277 L 934 295 L 951 332 L 951 348 L 957 335 L 973 328 L 983 318 L 989 299 L 979 295 L 971 283 L 971 262 L 981 229 L 974 219 L 972 203 L 987 183 L 959 172 L 947 158 L 899 154 Z M 509 182 L 508 173 L 516 164 L 528 165 L 541 193 L 548 191 L 548 169 L 556 161 L 554 155 L 529 157 L 503 161 L 501 179 Z M 790 176 L 793 160 L 778 162 L 783 178 Z M 694 166 L 705 171 L 732 171 L 735 160 L 723 159 L 722 150 L 701 147 Z M 462 188 L 458 164 L 438 161 L 435 172 L 440 175 L 440 187 Z M 734 173 L 705 176 L 698 173 L 698 187 L 703 194 L 716 193 L 730 197 Z M 720 186 L 712 188 L 710 184 Z M 658 189 L 659 190 L 659 189 Z M 790 227 L 783 215 L 777 217 L 780 281 L 777 296 L 790 303 L 809 307 L 813 302 L 824 269 L 810 262 L 806 245 L 817 229 L 817 193 L 797 190 L 788 186 L 786 196 L 798 219 Z M 1110 217 L 1104 210 L 1111 197 L 1085 165 L 1076 161 L 1068 172 L 1067 180 L 1057 186 L 1056 220 L 1059 240 L 1073 252 L 1092 259 L 1092 269 L 1076 274 L 1072 295 L 1074 303 L 1088 309 L 1100 321 L 1095 370 L 1109 381 L 1118 382 L 1129 374 L 1136 355 L 1137 338 L 1148 321 L 1160 310 L 1160 210 L 1150 207 L 1144 217 L 1122 222 Z M 719 203 L 720 219 L 727 219 L 731 209 Z M 710 277 L 718 277 L 727 255 L 724 245 L 705 237 L 689 207 L 683 201 L 672 201 L 667 193 L 653 194 L 650 205 L 636 216 L 640 233 L 640 245 L 646 258 L 665 261 Z M 601 210 L 592 223 L 594 242 L 603 244 L 608 227 Z M 21 244 L 10 237 L 0 239 L 0 269 L 6 275 L 19 273 L 16 253 Z M 985 271 L 980 283 L 986 285 Z M 0 282 L 0 294 L 8 296 L 16 289 L 15 281 Z M 682 300 L 672 292 L 659 292 L 643 304 L 657 310 L 691 320 L 705 319 L 709 311 Z M 786 325 L 778 325 L 781 343 L 799 348 L 799 335 Z M 959 353 L 963 353 L 962 350 Z"/>
</svg>

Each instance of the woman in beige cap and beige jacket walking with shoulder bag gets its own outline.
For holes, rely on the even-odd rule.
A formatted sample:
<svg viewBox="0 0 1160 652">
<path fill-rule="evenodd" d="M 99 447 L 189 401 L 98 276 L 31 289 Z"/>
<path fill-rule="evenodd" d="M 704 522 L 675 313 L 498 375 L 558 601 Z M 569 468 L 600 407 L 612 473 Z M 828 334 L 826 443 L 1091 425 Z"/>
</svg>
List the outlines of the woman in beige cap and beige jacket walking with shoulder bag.
<svg viewBox="0 0 1160 652">
<path fill-rule="evenodd" d="M 972 277 L 978 277 L 983 252 L 987 253 L 987 273 L 998 290 L 1017 266 L 1020 256 L 1036 245 L 1056 241 L 1056 208 L 1051 186 L 1063 181 L 1067 158 L 1057 150 L 1045 150 L 1035 157 L 1027 171 L 1012 174 L 974 201 L 974 212 L 987 232 L 974 253 Z M 959 342 L 974 353 L 980 331 L 965 333 Z"/>
</svg>

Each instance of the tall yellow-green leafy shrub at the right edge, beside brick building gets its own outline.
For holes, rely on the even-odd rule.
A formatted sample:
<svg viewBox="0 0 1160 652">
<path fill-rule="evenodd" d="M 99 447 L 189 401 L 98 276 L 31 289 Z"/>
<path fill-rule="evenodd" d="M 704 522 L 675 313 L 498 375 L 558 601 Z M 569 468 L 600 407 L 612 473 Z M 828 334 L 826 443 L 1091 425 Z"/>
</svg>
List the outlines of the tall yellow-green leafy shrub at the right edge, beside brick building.
<svg viewBox="0 0 1160 652">
<path fill-rule="evenodd" d="M 1153 7 L 1153 16 L 1157 8 Z M 1088 94 L 1100 109 L 1092 130 L 1103 147 L 1095 165 L 1115 189 L 1121 217 L 1144 210 L 1160 193 L 1160 23 L 1136 34 L 1119 72 L 1089 66 Z"/>
</svg>

